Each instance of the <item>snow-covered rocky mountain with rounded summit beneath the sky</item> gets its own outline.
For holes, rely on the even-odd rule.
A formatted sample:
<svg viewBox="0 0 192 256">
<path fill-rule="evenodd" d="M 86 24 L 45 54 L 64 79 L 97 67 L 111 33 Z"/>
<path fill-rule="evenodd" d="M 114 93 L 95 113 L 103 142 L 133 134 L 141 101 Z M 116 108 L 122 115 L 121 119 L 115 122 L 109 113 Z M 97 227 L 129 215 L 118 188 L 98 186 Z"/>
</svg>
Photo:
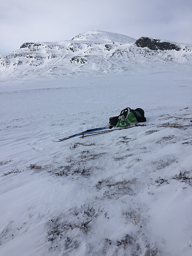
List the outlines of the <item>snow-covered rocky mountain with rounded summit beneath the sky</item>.
<svg viewBox="0 0 192 256">
<path fill-rule="evenodd" d="M 69 41 L 26 42 L 12 54 L 0 55 L 0 79 L 121 73 L 133 71 L 136 66 L 151 69 L 159 63 L 192 63 L 190 45 L 166 42 L 166 50 L 160 50 L 162 40 L 147 37 L 142 44 L 143 38 L 136 40 L 117 33 L 89 31 Z M 154 40 L 155 47 L 150 47 L 154 46 Z"/>
</svg>

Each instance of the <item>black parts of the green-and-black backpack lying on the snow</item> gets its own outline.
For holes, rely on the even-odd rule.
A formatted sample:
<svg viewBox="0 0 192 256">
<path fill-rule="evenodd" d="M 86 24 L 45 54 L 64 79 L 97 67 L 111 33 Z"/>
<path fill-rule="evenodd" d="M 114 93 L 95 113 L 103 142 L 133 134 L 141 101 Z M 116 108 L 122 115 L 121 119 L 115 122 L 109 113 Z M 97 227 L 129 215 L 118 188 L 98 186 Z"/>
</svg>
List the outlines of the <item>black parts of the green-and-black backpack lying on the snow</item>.
<svg viewBox="0 0 192 256">
<path fill-rule="evenodd" d="M 120 116 L 124 116 L 124 118 L 126 118 L 127 113 L 128 113 L 129 110 L 130 110 L 130 112 L 132 112 L 134 114 L 134 116 L 136 117 L 138 123 L 146 122 L 146 118 L 144 116 L 144 110 L 142 110 L 140 108 L 137 108 L 135 110 L 131 110 L 130 108 L 126 108 L 126 109 L 121 111 L 120 115 L 110 117 L 110 125 L 116 126 L 117 122 L 119 121 L 119 117 Z"/>
</svg>

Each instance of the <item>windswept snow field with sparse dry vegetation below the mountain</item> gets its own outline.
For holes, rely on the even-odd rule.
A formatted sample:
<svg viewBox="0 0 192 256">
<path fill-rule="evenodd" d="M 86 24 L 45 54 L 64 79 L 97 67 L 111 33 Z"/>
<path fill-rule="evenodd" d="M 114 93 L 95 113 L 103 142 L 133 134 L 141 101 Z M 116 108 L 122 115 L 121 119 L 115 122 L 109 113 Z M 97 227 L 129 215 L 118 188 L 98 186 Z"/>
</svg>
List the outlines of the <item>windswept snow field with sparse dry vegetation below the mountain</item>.
<svg viewBox="0 0 192 256">
<path fill-rule="evenodd" d="M 156 58 L 92 77 L 2 75 L 0 255 L 192 254 L 191 63 Z M 126 107 L 146 126 L 52 141 Z"/>
</svg>

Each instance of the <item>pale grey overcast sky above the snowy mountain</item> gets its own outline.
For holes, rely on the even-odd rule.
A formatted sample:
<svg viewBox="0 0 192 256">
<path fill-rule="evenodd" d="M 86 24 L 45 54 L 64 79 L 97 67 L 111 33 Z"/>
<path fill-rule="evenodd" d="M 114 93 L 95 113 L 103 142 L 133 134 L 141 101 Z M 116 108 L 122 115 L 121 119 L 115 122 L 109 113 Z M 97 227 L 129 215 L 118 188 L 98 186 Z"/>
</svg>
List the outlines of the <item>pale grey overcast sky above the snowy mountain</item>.
<svg viewBox="0 0 192 256">
<path fill-rule="evenodd" d="M 0 0 L 0 54 L 89 30 L 192 44 L 192 0 Z"/>
</svg>

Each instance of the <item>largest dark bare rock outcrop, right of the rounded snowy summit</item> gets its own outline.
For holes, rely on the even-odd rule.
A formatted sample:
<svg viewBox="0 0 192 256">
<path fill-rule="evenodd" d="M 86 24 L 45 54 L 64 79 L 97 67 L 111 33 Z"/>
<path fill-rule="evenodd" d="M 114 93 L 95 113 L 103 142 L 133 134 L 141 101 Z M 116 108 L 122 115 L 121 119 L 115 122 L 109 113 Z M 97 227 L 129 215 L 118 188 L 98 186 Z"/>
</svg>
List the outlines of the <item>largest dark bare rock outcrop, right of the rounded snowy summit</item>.
<svg viewBox="0 0 192 256">
<path fill-rule="evenodd" d="M 160 39 L 140 37 L 135 42 L 137 47 L 148 47 L 151 50 L 176 50 L 180 51 L 181 48 L 171 42 L 163 42 Z"/>
</svg>

